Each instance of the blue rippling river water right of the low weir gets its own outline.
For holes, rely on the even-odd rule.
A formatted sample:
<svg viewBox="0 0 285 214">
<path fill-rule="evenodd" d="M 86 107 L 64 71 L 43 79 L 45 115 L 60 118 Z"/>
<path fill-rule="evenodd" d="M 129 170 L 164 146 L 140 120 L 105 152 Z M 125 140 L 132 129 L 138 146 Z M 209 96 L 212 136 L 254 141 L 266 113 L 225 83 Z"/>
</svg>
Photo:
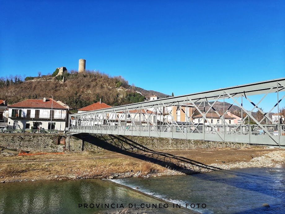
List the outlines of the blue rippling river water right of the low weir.
<svg viewBox="0 0 285 214">
<path fill-rule="evenodd" d="M 182 206 L 194 204 L 193 210 L 201 213 L 279 214 L 285 213 L 284 169 L 284 166 L 247 168 L 113 181 L 131 188 L 138 187 L 144 193 Z M 198 208 L 198 203 L 206 204 L 206 208 Z M 262 207 L 263 203 L 269 203 L 270 207 Z"/>
</svg>

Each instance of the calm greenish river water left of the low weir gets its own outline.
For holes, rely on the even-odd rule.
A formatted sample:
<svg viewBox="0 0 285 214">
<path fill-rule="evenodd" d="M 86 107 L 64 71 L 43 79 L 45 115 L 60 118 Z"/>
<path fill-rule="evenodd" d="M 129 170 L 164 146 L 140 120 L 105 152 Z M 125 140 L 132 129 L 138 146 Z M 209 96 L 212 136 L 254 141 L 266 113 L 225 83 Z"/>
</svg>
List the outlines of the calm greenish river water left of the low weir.
<svg viewBox="0 0 285 214">
<path fill-rule="evenodd" d="M 79 208 L 79 204 L 87 203 L 89 208 Z M 90 208 L 90 204 L 107 203 L 109 208 Z M 0 185 L 0 213 L 9 214 L 57 214 L 57 213 L 116 213 L 123 208 L 111 208 L 121 203 L 128 204 L 154 203 L 157 208 L 139 208 L 137 213 L 187 213 L 182 209 L 171 207 L 158 208 L 164 204 L 161 200 L 146 196 L 140 192 L 126 189 L 109 181 L 97 179 L 75 181 L 34 181 L 5 183 Z M 92 205 L 91 205 L 92 206 Z M 155 211 L 155 212 L 153 212 Z"/>
</svg>

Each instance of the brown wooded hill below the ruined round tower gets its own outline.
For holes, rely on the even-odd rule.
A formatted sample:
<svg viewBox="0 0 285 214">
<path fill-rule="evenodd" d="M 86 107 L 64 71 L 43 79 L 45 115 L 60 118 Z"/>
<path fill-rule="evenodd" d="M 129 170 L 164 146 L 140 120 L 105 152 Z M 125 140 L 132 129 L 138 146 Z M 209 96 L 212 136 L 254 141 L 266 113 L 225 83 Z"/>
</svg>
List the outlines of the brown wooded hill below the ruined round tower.
<svg viewBox="0 0 285 214">
<path fill-rule="evenodd" d="M 26 77 L 25 80 L 21 77 L 2 77 L 0 78 L 2 88 L 0 97 L 6 99 L 8 104 L 13 104 L 26 99 L 53 95 L 55 100 L 65 101 L 72 108 L 79 109 L 98 102 L 100 99 L 108 105 L 117 106 L 143 102 L 145 97 L 149 98 L 153 95 L 160 98 L 169 96 L 134 85 L 130 86 L 128 81 L 121 76 L 110 77 L 98 71 L 78 74 L 77 71 L 72 70 L 61 76 L 55 77 L 55 75 L 54 73 L 42 77 Z M 63 78 L 64 83 L 62 83 Z"/>
</svg>

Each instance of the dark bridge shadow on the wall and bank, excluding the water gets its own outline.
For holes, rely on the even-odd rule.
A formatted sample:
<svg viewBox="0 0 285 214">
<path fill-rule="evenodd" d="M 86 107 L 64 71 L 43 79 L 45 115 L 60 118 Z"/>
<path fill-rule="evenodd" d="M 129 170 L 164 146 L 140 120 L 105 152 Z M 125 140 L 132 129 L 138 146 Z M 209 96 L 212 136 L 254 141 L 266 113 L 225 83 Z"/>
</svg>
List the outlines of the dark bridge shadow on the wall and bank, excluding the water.
<svg viewBox="0 0 285 214">
<path fill-rule="evenodd" d="M 162 167 L 177 170 L 178 172 L 182 172 L 187 175 L 199 173 L 199 168 L 203 168 L 205 169 L 205 171 L 221 169 L 218 167 L 205 165 L 189 158 L 148 149 L 147 147 L 140 145 L 125 136 L 102 135 L 99 138 L 88 133 L 76 134 L 74 136 L 103 149 L 128 155 L 130 157 L 138 158 L 140 160 L 149 161 L 151 163 L 158 164 Z M 196 168 L 197 170 L 192 170 L 187 167 Z"/>
</svg>

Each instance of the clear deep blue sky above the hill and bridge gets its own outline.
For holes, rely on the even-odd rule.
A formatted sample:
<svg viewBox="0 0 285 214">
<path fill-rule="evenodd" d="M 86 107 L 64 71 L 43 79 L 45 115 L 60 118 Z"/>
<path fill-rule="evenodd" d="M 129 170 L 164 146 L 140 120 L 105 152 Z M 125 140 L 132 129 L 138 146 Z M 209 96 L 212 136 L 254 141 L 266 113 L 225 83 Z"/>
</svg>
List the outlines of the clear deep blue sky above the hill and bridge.
<svg viewBox="0 0 285 214">
<path fill-rule="evenodd" d="M 285 76 L 285 1 L 3 1 L 0 76 L 57 67 L 174 95 Z"/>
</svg>

